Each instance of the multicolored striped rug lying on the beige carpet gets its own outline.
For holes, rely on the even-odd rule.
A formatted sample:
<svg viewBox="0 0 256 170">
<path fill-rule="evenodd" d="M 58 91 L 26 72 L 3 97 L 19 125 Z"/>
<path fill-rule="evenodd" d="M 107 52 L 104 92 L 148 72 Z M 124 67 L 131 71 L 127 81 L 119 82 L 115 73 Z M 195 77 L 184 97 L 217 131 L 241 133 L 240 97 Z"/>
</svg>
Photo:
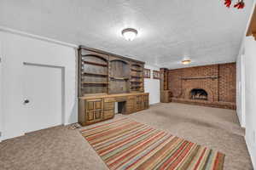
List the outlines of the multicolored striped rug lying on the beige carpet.
<svg viewBox="0 0 256 170">
<path fill-rule="evenodd" d="M 110 169 L 222 170 L 224 154 L 129 118 L 81 130 Z"/>
</svg>

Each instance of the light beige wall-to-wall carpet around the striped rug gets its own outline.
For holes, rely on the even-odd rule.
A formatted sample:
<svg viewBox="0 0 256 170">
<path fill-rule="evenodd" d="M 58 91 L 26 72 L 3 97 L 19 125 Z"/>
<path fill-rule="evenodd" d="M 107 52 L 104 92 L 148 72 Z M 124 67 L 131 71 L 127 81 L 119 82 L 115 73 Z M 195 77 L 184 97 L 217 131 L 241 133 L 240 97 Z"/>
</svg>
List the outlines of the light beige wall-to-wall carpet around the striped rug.
<svg viewBox="0 0 256 170">
<path fill-rule="evenodd" d="M 224 153 L 226 170 L 253 169 L 235 111 L 171 103 L 153 105 L 127 117 Z M 108 169 L 80 129 L 52 127 L 3 141 L 0 169 Z"/>
</svg>

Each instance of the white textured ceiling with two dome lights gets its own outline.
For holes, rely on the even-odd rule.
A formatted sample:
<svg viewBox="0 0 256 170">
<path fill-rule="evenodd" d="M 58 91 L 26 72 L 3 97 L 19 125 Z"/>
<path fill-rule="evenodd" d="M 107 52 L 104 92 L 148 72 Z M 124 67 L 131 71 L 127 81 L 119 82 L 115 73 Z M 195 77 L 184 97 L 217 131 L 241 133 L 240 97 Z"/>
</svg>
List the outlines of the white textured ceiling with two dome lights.
<svg viewBox="0 0 256 170">
<path fill-rule="evenodd" d="M 235 0 L 234 0 L 235 1 Z M 180 68 L 235 61 L 253 0 L 0 0 L 0 26 Z M 136 28 L 127 42 L 120 32 Z"/>
</svg>

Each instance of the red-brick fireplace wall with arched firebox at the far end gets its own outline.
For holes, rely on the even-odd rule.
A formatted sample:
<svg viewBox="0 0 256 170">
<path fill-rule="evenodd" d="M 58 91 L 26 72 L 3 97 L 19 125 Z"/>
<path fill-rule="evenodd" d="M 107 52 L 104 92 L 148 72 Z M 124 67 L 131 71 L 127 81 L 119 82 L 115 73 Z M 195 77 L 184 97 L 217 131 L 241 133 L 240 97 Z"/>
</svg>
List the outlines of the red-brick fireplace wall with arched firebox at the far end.
<svg viewBox="0 0 256 170">
<path fill-rule="evenodd" d="M 236 63 L 168 70 L 172 102 L 236 109 Z"/>
</svg>

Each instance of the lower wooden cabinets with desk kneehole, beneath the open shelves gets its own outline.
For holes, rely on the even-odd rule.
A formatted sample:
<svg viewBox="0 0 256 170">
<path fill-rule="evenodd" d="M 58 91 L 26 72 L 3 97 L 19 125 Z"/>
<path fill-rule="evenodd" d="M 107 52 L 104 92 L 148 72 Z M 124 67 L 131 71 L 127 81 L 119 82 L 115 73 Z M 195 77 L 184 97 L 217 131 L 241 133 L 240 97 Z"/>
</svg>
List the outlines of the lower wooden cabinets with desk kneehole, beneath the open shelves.
<svg viewBox="0 0 256 170">
<path fill-rule="evenodd" d="M 114 103 L 123 104 L 122 113 L 131 114 L 148 109 L 148 94 L 109 94 L 79 98 L 79 123 L 82 126 L 111 119 Z"/>
</svg>

